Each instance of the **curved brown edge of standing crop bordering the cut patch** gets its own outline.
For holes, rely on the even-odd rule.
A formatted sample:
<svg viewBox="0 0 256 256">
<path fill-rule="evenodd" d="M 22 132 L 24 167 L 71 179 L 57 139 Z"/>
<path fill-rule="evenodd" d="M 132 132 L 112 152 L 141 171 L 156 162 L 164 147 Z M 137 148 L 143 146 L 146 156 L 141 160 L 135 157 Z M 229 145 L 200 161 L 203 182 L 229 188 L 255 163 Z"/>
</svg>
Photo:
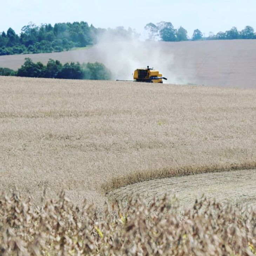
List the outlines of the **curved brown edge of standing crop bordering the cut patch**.
<svg viewBox="0 0 256 256">
<path fill-rule="evenodd" d="M 135 184 L 138 182 L 170 178 L 178 176 L 188 176 L 203 173 L 220 173 L 223 171 L 231 170 L 249 170 L 256 168 L 256 161 L 244 163 L 231 163 L 225 165 L 211 165 L 211 166 L 183 166 L 180 168 L 163 168 L 157 170 L 137 171 L 123 177 L 115 177 L 109 182 L 103 184 L 102 189 L 106 194 L 110 191 L 121 188 L 127 185 Z"/>
</svg>

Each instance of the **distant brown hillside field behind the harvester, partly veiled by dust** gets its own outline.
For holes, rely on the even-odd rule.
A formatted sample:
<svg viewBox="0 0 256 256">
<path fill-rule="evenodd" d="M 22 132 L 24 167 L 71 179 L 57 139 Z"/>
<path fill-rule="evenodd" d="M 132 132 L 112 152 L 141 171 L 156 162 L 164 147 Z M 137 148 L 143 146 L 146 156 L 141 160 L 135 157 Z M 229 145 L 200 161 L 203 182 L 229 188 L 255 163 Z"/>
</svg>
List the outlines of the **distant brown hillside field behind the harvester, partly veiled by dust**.
<svg viewBox="0 0 256 256">
<path fill-rule="evenodd" d="M 61 53 L 0 56 L 0 67 L 18 69 L 26 57 L 104 63 L 113 79 L 132 79 L 135 68 L 159 69 L 168 83 L 256 88 L 256 40 L 104 43 Z"/>
</svg>

